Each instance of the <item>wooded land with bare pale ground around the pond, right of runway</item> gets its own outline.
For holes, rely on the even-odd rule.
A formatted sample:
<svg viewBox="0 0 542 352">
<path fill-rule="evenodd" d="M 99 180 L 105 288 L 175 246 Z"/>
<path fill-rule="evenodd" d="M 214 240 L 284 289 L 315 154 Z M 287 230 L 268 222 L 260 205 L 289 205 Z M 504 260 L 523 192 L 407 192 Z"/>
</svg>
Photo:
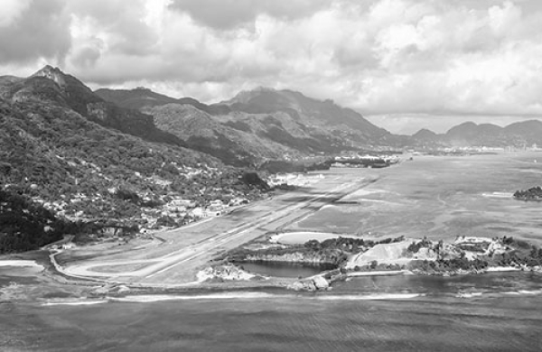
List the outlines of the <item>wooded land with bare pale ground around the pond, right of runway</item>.
<svg viewBox="0 0 542 352">
<path fill-rule="evenodd" d="M 303 242 L 311 236 L 318 239 Z M 330 270 L 312 277 L 299 278 L 287 285 L 291 290 L 313 292 L 326 290 L 333 282 L 354 276 L 453 276 L 500 271 L 540 271 L 542 248 L 511 236 L 458 236 L 453 242 L 444 243 L 443 240 L 435 241 L 426 237 L 363 239 L 325 233 L 284 233 L 259 238 L 230 251 L 224 255 L 220 264 L 205 272 L 205 279 L 266 280 L 257 273 L 243 271 L 242 264 L 249 262 L 331 265 Z"/>
</svg>

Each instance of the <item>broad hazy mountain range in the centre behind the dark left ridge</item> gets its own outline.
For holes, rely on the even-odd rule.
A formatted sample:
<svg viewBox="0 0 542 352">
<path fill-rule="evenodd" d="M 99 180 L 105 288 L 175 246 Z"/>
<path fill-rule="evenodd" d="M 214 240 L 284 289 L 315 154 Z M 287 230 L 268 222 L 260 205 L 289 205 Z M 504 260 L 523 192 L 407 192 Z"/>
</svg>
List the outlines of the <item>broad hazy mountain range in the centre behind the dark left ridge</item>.
<svg viewBox="0 0 542 352">
<path fill-rule="evenodd" d="M 166 97 L 146 88 L 98 89 L 96 94 L 121 107 L 139 108 L 190 148 L 233 165 L 399 141 L 351 109 L 291 90 L 257 88 L 212 105 L 190 97 Z"/>
</svg>

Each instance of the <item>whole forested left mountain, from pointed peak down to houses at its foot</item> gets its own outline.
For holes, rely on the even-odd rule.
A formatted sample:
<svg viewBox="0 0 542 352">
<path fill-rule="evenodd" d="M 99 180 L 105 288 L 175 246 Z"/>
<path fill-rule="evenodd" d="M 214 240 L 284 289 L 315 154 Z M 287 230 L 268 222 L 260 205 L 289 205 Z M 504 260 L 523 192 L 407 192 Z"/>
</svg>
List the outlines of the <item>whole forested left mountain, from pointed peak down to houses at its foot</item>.
<svg viewBox="0 0 542 352">
<path fill-rule="evenodd" d="M 192 218 L 168 213 L 172 201 L 227 204 L 266 191 L 254 173 L 206 153 L 124 133 L 107 124 L 111 116 L 96 121 L 92 102 L 126 110 L 78 82 L 50 68 L 27 79 L 0 78 L 0 253 L 58 238 L 58 228 L 43 227 L 58 227 L 61 218 L 94 224 L 92 234 L 102 227 L 156 227 L 164 212 L 168 224 L 182 224 Z M 161 133 L 154 122 L 149 128 Z M 35 236 L 23 238 L 24 228 Z"/>
</svg>

